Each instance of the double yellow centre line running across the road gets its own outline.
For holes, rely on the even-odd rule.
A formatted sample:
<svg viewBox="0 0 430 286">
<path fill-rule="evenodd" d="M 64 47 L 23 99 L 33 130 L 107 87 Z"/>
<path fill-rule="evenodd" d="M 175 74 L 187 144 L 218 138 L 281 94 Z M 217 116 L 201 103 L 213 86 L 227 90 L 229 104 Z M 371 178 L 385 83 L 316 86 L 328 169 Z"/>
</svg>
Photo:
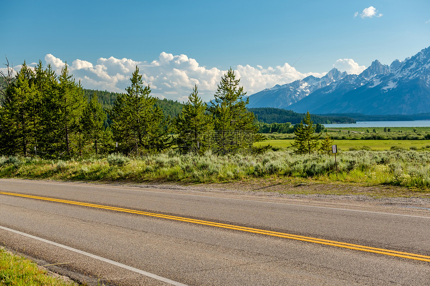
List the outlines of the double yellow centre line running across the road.
<svg viewBox="0 0 430 286">
<path fill-rule="evenodd" d="M 37 199 L 37 200 L 44 200 L 44 201 L 50 201 L 50 202 L 57 202 L 57 203 L 64 203 L 64 204 L 72 204 L 72 205 L 78 205 L 78 206 L 84 206 L 84 207 L 112 210 L 112 211 L 125 212 L 125 213 L 130 213 L 130 214 L 144 215 L 144 216 L 150 216 L 150 217 L 156 217 L 156 218 L 162 218 L 162 219 L 188 222 L 188 223 L 194 223 L 194 224 L 200 224 L 200 225 L 206 225 L 206 226 L 212 226 L 212 227 L 218 227 L 218 228 L 224 228 L 224 229 L 243 231 L 243 232 L 248 232 L 248 233 L 255 233 L 255 234 L 262 234 L 262 235 L 267 235 L 267 236 L 281 237 L 281 238 L 287 238 L 287 239 L 292 239 L 292 240 L 297 240 L 297 241 L 305 241 L 305 242 L 317 243 L 317 244 L 322 244 L 322 245 L 341 247 L 341 248 L 346 248 L 346 249 L 351 249 L 351 250 L 359 250 L 359 251 L 365 251 L 365 252 L 370 252 L 370 253 L 377 253 L 377 254 L 383 254 L 383 255 L 389 255 L 389 256 L 395 256 L 395 257 L 401 257 L 401 258 L 430 262 L 429 256 L 407 253 L 407 252 L 399 252 L 399 251 L 394 251 L 394 250 L 373 248 L 373 247 L 367 247 L 367 246 L 362 246 L 362 245 L 355 245 L 355 244 L 349 244 L 349 243 L 343 243 L 343 242 L 337 242 L 337 241 L 323 240 L 323 239 L 312 238 L 312 237 L 298 236 L 298 235 L 293 235 L 293 234 L 272 232 L 272 231 L 261 230 L 261 229 L 247 228 L 247 227 L 241 227 L 241 226 L 235 226 L 235 225 L 221 224 L 221 223 L 215 223 L 215 222 L 209 222 L 209 221 L 195 220 L 195 219 L 189 219 L 189 218 L 183 218 L 183 217 L 169 216 L 169 215 L 163 215 L 163 214 L 157 214 L 157 213 L 142 212 L 142 211 L 136 211 L 136 210 L 130 210 L 130 209 L 109 207 L 109 206 L 103 206 L 103 205 L 95 205 L 95 204 L 75 202 L 75 201 L 67 201 L 67 200 L 38 197 L 38 196 L 31 196 L 31 195 L 22 195 L 22 194 L 7 193 L 7 192 L 0 192 L 0 194 L 9 195 L 9 196 L 16 196 L 16 197 L 23 197 L 23 198 L 30 198 L 30 199 Z"/>
</svg>

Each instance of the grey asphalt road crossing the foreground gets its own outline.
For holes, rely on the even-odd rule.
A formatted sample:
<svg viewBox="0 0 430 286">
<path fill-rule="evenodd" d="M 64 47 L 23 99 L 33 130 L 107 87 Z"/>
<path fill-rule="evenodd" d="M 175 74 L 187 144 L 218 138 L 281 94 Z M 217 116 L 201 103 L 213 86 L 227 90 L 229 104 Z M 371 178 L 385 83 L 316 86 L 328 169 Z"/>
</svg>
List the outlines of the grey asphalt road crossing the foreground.
<svg viewBox="0 0 430 286">
<path fill-rule="evenodd" d="M 430 256 L 425 209 L 8 179 L 0 192 Z M 34 198 L 0 194 L 0 227 L 0 245 L 93 285 L 430 285 L 430 262 Z"/>
</svg>

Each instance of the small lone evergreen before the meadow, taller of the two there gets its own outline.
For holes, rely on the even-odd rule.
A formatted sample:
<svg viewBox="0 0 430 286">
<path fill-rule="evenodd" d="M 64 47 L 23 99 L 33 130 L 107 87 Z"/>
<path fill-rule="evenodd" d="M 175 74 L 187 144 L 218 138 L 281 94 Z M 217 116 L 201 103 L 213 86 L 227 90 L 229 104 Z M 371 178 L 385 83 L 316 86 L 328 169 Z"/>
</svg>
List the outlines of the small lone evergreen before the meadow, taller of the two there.
<svg viewBox="0 0 430 286">
<path fill-rule="evenodd" d="M 296 154 L 311 154 L 318 149 L 319 133 L 315 133 L 316 126 L 310 120 L 309 111 L 303 120 L 294 129 L 295 137 L 291 145 L 295 148 Z"/>
</svg>

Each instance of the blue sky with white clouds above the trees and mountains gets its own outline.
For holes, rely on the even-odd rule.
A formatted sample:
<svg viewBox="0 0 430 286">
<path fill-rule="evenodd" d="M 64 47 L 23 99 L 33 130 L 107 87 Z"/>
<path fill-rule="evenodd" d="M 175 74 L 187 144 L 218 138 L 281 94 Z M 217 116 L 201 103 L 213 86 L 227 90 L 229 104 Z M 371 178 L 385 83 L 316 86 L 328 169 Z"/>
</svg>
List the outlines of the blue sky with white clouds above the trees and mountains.
<svg viewBox="0 0 430 286">
<path fill-rule="evenodd" d="M 17 4 L 18 3 L 18 4 Z M 428 0 L 3 1 L 15 69 L 67 62 L 86 88 L 123 91 L 138 65 L 154 95 L 208 100 L 230 66 L 248 94 L 333 67 L 358 73 L 430 46 Z M 3 60 L 4 62 L 4 60 Z"/>
</svg>

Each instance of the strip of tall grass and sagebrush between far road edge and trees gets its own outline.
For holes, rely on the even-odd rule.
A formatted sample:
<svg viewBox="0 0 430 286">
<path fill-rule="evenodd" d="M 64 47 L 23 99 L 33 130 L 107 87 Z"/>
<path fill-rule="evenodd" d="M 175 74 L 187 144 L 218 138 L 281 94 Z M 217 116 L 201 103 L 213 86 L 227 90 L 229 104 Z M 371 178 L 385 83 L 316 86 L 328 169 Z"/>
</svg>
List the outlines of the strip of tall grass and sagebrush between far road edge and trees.
<svg viewBox="0 0 430 286">
<path fill-rule="evenodd" d="M 338 180 L 430 187 L 430 152 L 416 150 L 343 151 L 337 156 Z M 127 158 L 109 155 L 81 161 L 51 161 L 0 156 L 0 176 L 33 179 L 94 181 L 163 181 L 184 183 L 229 182 L 243 179 L 311 178 L 336 180 L 331 155 L 295 155 L 290 151 L 258 155 L 202 156 L 168 153 Z"/>
</svg>

